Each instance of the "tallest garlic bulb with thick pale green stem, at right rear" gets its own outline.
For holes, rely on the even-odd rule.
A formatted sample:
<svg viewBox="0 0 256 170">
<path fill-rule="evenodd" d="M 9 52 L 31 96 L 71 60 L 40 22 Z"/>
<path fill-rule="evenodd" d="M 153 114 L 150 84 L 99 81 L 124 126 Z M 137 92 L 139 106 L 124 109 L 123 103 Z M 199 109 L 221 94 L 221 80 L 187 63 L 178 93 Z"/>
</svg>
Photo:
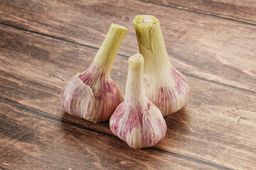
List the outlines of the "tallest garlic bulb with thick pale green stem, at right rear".
<svg viewBox="0 0 256 170">
<path fill-rule="evenodd" d="M 135 16 L 133 24 L 144 56 L 144 88 L 146 96 L 165 115 L 181 110 L 188 103 L 190 89 L 186 77 L 171 65 L 154 16 Z"/>
</svg>

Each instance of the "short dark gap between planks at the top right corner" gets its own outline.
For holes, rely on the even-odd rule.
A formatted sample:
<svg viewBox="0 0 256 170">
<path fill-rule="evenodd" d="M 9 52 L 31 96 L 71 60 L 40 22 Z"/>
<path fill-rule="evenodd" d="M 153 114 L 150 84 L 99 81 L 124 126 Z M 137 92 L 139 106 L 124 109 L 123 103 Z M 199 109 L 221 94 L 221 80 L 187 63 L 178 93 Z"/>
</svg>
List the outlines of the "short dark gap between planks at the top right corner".
<svg viewBox="0 0 256 170">
<path fill-rule="evenodd" d="M 144 1 L 144 0 L 142 0 L 142 1 Z M 240 19 L 240 18 L 234 18 L 234 17 L 231 17 L 231 16 L 223 16 L 223 15 L 220 15 L 220 14 L 210 13 L 210 12 L 206 12 L 206 11 L 193 10 L 191 8 L 186 8 L 184 6 L 176 6 L 174 4 L 166 5 L 166 4 L 161 4 L 161 3 L 158 3 L 158 2 L 154 2 L 154 1 L 144 1 L 144 2 L 147 2 L 147 3 L 150 3 L 150 4 L 156 4 L 156 5 L 160 5 L 160 6 L 166 6 L 166 7 L 169 7 L 169 8 L 176 8 L 176 9 L 180 9 L 180 10 L 183 10 L 183 11 L 190 11 L 190 12 L 193 12 L 193 13 L 201 13 L 201 14 L 205 14 L 205 15 L 208 15 L 208 16 L 214 16 L 214 17 L 218 17 L 218 18 L 227 19 L 227 20 L 230 20 L 230 21 L 236 21 L 236 22 L 239 22 L 239 23 L 248 24 L 250 26 L 256 26 L 256 23 L 253 22 L 253 21 L 247 21 L 247 20 L 243 20 L 243 19 Z"/>
</svg>

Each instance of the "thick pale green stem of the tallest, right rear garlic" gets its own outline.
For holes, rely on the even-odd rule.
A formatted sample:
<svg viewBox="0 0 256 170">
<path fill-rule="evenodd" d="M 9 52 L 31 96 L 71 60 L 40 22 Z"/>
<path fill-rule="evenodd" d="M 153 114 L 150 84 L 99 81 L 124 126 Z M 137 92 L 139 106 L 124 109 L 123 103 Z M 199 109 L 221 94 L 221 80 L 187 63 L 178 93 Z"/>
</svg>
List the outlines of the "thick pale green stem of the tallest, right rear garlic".
<svg viewBox="0 0 256 170">
<path fill-rule="evenodd" d="M 145 60 L 144 74 L 163 72 L 171 67 L 158 19 L 154 16 L 141 15 L 134 18 L 133 24 L 139 51 Z"/>
</svg>

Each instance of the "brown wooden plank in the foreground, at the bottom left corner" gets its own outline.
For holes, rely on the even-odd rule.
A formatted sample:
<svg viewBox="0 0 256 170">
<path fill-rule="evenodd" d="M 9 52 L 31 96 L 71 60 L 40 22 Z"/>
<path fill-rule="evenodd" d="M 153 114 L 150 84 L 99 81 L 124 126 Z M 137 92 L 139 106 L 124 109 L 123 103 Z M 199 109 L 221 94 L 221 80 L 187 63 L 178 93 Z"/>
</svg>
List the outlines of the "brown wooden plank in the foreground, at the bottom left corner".
<svg viewBox="0 0 256 170">
<path fill-rule="evenodd" d="M 0 108 L 3 169 L 225 169 L 159 149 L 132 149 L 112 135 L 1 99 Z"/>
</svg>

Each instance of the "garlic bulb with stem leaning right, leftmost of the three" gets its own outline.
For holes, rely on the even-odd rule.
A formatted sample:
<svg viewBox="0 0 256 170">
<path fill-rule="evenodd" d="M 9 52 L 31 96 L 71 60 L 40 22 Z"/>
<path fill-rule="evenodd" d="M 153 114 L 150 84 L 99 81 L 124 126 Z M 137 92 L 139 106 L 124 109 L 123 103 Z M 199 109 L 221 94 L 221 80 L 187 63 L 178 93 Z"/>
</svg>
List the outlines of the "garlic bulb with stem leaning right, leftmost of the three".
<svg viewBox="0 0 256 170">
<path fill-rule="evenodd" d="M 90 67 L 65 85 L 60 103 L 70 115 L 92 122 L 110 120 L 123 101 L 122 92 L 110 78 L 110 71 L 127 28 L 113 24 Z"/>
</svg>

